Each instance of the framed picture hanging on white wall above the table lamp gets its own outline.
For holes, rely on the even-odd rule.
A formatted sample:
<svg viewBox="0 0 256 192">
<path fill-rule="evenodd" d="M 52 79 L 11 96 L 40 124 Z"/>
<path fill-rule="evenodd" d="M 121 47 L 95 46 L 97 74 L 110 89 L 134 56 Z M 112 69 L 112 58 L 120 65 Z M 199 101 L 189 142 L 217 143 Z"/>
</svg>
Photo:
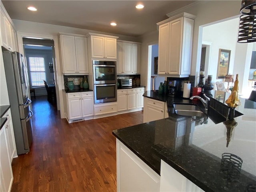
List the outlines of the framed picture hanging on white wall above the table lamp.
<svg viewBox="0 0 256 192">
<path fill-rule="evenodd" d="M 228 74 L 230 50 L 220 49 L 218 58 L 217 79 L 224 79 Z"/>
</svg>

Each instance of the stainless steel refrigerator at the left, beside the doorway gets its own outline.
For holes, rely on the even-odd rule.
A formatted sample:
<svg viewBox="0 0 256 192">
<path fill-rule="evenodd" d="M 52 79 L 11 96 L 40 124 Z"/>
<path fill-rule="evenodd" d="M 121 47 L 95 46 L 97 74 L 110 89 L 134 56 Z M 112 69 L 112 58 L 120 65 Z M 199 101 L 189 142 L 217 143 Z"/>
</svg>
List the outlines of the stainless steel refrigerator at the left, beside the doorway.
<svg viewBox="0 0 256 192">
<path fill-rule="evenodd" d="M 31 110 L 31 100 L 28 98 L 28 72 L 22 54 L 10 52 L 4 47 L 2 47 L 2 53 L 14 137 L 19 155 L 28 153 L 32 143 L 31 118 L 33 112 Z"/>
</svg>

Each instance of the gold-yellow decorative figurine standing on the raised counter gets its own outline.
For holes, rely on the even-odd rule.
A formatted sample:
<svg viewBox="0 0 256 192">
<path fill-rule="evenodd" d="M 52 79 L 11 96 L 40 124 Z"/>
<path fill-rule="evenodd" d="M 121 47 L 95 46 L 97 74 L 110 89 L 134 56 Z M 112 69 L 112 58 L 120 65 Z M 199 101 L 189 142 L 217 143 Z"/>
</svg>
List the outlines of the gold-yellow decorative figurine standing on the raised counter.
<svg viewBox="0 0 256 192">
<path fill-rule="evenodd" d="M 238 74 L 236 74 L 236 80 L 234 82 L 234 87 L 228 99 L 225 101 L 231 108 L 236 108 L 237 106 L 241 105 L 239 96 L 238 96 Z"/>
</svg>

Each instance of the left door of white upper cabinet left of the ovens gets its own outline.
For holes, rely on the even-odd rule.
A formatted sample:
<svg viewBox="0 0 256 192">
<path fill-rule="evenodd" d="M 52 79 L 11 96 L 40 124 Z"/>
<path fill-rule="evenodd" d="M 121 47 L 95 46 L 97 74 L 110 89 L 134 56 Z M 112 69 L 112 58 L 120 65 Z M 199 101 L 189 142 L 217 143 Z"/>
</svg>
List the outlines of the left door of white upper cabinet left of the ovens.
<svg viewBox="0 0 256 192">
<path fill-rule="evenodd" d="M 61 52 L 63 73 L 76 73 L 76 47 L 75 37 L 61 35 Z"/>
</svg>

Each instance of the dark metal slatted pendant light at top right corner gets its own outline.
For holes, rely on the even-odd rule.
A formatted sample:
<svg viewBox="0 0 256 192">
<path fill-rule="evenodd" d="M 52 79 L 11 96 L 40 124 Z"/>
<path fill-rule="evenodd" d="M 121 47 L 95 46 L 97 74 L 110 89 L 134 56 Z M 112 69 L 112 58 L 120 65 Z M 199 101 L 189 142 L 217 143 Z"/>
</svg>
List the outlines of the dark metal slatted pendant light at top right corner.
<svg viewBox="0 0 256 192">
<path fill-rule="evenodd" d="M 238 43 L 256 42 L 256 0 L 242 0 Z"/>
</svg>

